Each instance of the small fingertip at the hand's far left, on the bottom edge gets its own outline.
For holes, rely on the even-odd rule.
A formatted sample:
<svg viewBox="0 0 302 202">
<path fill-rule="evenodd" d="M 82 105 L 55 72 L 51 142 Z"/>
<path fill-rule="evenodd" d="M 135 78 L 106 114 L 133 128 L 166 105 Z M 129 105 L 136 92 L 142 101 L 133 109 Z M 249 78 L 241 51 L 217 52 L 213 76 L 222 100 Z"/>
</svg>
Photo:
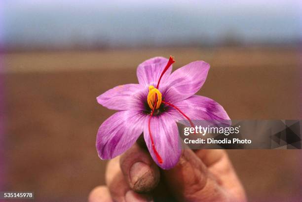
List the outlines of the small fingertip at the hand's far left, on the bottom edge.
<svg viewBox="0 0 302 202">
<path fill-rule="evenodd" d="M 106 186 L 98 186 L 90 192 L 88 202 L 113 202 L 113 200 Z"/>
</svg>

